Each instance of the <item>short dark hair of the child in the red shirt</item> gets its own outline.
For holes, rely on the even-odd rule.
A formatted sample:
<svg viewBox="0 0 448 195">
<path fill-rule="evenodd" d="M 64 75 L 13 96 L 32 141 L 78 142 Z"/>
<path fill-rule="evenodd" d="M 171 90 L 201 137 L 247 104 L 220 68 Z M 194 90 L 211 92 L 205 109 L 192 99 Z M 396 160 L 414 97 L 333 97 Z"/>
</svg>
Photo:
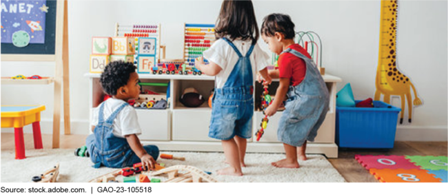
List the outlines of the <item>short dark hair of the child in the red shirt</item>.
<svg viewBox="0 0 448 195">
<path fill-rule="evenodd" d="M 292 22 L 289 15 L 270 14 L 263 19 L 261 34 L 267 37 L 274 37 L 276 32 L 280 32 L 285 35 L 285 39 L 294 39 L 296 37 L 295 27 L 296 25 Z"/>
</svg>

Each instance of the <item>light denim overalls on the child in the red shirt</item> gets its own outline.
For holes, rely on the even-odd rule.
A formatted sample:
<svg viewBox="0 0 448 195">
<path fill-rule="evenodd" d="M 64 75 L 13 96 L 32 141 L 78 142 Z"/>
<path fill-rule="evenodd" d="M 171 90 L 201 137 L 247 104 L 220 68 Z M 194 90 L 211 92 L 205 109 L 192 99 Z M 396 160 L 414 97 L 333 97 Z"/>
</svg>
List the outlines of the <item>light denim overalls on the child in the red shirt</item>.
<svg viewBox="0 0 448 195">
<path fill-rule="evenodd" d="M 314 141 L 325 121 L 329 110 L 329 92 L 312 59 L 290 48 L 283 51 L 287 52 L 303 59 L 307 70 L 301 84 L 289 86 L 286 110 L 281 117 L 277 136 L 282 143 L 301 147 L 305 141 Z"/>
</svg>

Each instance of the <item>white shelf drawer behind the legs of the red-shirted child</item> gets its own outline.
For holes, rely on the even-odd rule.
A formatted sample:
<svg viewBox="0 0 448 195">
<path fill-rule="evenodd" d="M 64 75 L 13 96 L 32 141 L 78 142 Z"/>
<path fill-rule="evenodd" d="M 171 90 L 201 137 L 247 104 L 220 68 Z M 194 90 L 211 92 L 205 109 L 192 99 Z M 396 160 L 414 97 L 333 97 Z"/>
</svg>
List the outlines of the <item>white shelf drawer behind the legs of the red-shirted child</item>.
<svg viewBox="0 0 448 195">
<path fill-rule="evenodd" d="M 277 129 L 283 112 L 278 112 L 276 115 L 269 118 L 267 130 L 261 138 L 261 143 L 278 143 Z M 256 112 L 254 116 L 254 132 L 260 128 L 261 120 L 264 118 L 262 112 Z M 328 112 L 325 122 L 318 131 L 318 136 L 314 143 L 334 143 L 334 128 L 336 125 L 336 116 L 333 112 Z"/>
</svg>

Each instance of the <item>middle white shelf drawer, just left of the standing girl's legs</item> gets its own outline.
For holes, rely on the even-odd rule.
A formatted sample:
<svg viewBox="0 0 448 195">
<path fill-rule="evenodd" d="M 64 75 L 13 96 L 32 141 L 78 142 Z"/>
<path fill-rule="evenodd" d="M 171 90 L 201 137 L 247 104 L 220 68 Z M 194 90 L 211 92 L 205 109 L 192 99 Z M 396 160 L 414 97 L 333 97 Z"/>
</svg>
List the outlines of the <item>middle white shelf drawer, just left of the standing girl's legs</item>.
<svg viewBox="0 0 448 195">
<path fill-rule="evenodd" d="M 173 110 L 173 141 L 216 141 L 208 137 L 212 109 Z"/>
</svg>

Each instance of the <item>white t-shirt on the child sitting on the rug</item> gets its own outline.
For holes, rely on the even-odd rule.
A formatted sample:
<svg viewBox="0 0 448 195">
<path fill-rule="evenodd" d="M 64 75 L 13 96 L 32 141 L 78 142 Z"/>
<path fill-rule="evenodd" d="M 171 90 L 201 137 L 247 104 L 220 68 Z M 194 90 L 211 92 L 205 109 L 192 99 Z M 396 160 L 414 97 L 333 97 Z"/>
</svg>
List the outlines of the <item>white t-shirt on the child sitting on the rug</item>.
<svg viewBox="0 0 448 195">
<path fill-rule="evenodd" d="M 117 110 L 121 105 L 123 105 L 125 101 L 121 99 L 108 99 L 104 102 L 104 120 L 108 120 L 110 115 L 112 115 L 115 110 Z M 99 110 L 100 107 L 94 108 L 93 114 L 92 114 L 92 123 L 90 125 L 95 126 L 99 123 Z M 135 111 L 134 107 L 130 105 L 126 105 L 119 114 L 116 115 L 116 118 L 114 120 L 114 136 L 119 138 L 125 138 L 127 135 L 140 135 L 141 134 L 141 127 L 139 125 L 139 118 L 137 116 L 137 112 Z"/>
</svg>

